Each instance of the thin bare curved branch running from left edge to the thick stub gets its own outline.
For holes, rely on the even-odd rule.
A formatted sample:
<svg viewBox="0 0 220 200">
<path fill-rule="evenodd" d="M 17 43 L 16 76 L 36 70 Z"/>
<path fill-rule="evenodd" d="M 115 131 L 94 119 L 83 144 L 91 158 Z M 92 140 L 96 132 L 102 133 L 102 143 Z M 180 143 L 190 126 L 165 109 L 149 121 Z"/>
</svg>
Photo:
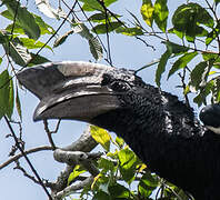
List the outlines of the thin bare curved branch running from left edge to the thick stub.
<svg viewBox="0 0 220 200">
<path fill-rule="evenodd" d="M 24 151 L 26 154 L 30 154 L 30 153 L 33 153 L 33 152 L 38 152 L 38 151 L 44 151 L 44 150 L 53 150 L 52 147 L 49 147 L 49 146 L 42 146 L 42 147 L 38 147 L 38 148 L 33 148 L 33 149 L 29 149 L 27 151 Z M 2 164 L 0 164 L 0 170 L 6 168 L 7 166 L 9 166 L 10 163 L 19 160 L 20 158 L 22 158 L 23 154 L 22 153 L 19 153 L 17 156 L 13 156 L 12 158 L 10 158 L 9 160 L 7 160 L 6 162 L 3 162 Z"/>
</svg>

